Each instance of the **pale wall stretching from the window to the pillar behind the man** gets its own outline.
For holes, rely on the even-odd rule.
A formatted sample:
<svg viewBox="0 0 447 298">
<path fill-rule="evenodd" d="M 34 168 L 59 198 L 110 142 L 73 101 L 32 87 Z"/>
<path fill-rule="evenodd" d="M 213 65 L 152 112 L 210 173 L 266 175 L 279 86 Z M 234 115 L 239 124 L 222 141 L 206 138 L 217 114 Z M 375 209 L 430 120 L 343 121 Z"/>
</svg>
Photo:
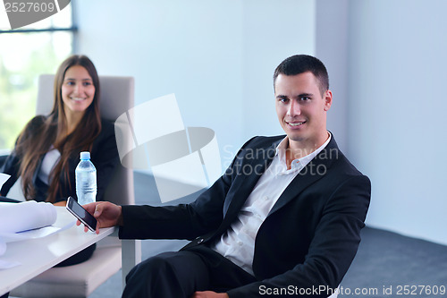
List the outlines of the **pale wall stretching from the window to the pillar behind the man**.
<svg viewBox="0 0 447 298">
<path fill-rule="evenodd" d="M 76 8 L 78 52 L 101 74 L 134 76 L 136 104 L 175 93 L 186 126 L 215 130 L 223 166 L 250 137 L 282 133 L 274 68 L 315 51 L 315 0 L 79 0 Z"/>
</svg>

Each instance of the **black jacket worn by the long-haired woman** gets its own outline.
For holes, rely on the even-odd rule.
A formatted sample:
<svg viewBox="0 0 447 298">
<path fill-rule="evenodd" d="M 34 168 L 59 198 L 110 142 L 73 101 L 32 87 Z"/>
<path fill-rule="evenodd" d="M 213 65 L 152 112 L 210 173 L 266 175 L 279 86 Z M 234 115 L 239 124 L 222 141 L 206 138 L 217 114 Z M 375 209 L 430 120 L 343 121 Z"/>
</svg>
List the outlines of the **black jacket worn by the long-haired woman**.
<svg viewBox="0 0 447 298">
<path fill-rule="evenodd" d="M 46 120 L 46 116 L 38 115 L 30 120 L 30 124 L 27 125 L 27 131 L 30 137 L 36 130 L 40 129 L 42 123 Z M 40 157 L 38 167 L 33 175 L 32 183 L 36 187 L 37 194 L 34 200 L 45 201 L 47 197 L 48 186 L 42 183 L 38 179 L 38 173 L 44 156 Z M 105 188 L 108 185 L 114 168 L 119 162 L 118 149 L 116 147 L 116 140 L 114 136 L 114 124 L 102 119 L 101 120 L 101 132 L 99 132 L 97 138 L 93 141 L 92 149 L 90 152 L 90 159 L 93 165 L 97 168 L 97 200 L 103 200 Z M 72 152 L 71 157 L 68 160 L 69 163 L 69 179 L 66 180 L 62 173 L 59 177 L 59 191 L 60 195 L 56 198 L 57 201 L 67 200 L 69 196 L 77 199 L 75 190 L 75 175 L 74 170 L 80 162 L 80 150 Z M 11 175 L 11 177 L 4 183 L 1 193 L 6 196 L 13 184 L 19 179 L 21 157 L 13 152 L 6 158 L 4 165 L 1 167 L 0 172 Z"/>
</svg>

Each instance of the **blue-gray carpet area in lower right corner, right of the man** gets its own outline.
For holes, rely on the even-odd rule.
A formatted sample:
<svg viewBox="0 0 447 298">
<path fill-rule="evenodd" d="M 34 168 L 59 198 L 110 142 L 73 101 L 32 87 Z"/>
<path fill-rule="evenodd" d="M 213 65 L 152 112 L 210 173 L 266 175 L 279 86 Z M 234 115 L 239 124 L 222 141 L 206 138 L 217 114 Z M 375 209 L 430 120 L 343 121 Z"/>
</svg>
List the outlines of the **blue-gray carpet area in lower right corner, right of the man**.
<svg viewBox="0 0 447 298">
<path fill-rule="evenodd" d="M 447 246 L 366 227 L 342 286 L 339 297 L 447 297 Z"/>
</svg>

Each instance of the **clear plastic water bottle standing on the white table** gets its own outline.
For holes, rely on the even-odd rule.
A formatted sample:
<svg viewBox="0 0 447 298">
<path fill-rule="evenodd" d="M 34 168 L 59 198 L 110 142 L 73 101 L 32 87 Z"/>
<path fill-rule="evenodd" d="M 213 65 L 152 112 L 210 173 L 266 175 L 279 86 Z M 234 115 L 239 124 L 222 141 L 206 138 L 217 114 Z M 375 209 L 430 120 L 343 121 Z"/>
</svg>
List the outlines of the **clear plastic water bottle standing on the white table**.
<svg viewBox="0 0 447 298">
<path fill-rule="evenodd" d="M 76 166 L 76 195 L 80 205 L 97 200 L 97 169 L 90 161 L 90 152 L 80 152 L 80 163 Z"/>
</svg>

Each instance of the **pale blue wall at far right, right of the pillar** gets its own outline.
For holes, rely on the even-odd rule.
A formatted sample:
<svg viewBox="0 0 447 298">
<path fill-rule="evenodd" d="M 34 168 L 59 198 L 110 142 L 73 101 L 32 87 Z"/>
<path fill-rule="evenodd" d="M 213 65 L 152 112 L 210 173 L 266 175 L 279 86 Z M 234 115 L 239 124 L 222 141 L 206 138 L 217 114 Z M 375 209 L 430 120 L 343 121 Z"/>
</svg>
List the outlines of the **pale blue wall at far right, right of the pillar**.
<svg viewBox="0 0 447 298">
<path fill-rule="evenodd" d="M 349 152 L 370 226 L 447 244 L 447 2 L 350 1 Z"/>
</svg>

